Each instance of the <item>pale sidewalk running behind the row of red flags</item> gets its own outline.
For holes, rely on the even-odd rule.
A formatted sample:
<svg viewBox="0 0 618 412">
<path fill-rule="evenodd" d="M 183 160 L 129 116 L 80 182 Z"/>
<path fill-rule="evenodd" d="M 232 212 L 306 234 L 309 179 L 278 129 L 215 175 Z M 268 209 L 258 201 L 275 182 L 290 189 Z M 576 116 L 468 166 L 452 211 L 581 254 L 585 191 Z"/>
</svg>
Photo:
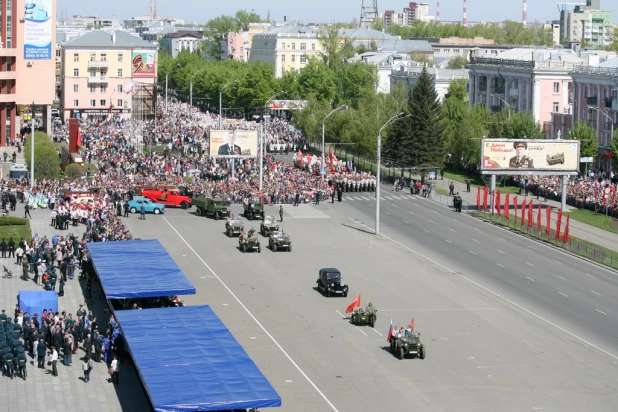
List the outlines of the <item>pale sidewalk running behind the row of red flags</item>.
<svg viewBox="0 0 618 412">
<path fill-rule="evenodd" d="M 473 208 L 476 207 L 477 186 L 472 185 L 472 187 L 470 188 L 470 193 L 467 193 L 466 184 L 460 183 L 456 180 L 448 180 L 445 178 L 444 180 L 440 180 L 440 179 L 432 180 L 432 182 L 434 183 L 434 187 L 439 187 L 441 189 L 446 190 L 447 192 L 448 192 L 448 187 L 450 183 L 453 182 L 453 184 L 455 185 L 455 193 L 459 192 L 464 202 L 468 202 Z M 481 202 L 483 201 L 482 192 L 483 192 L 483 188 L 481 188 Z M 502 197 L 502 201 L 504 201 L 504 195 L 501 197 Z M 512 198 L 513 198 L 513 195 L 511 195 L 511 199 Z M 542 197 L 537 200 L 536 196 L 532 196 L 531 194 L 528 195 L 528 197 L 526 197 L 525 195 L 522 195 L 522 196 L 517 195 L 517 198 L 526 199 L 526 201 L 532 199 L 535 206 L 541 203 L 542 204 L 541 207 L 543 209 L 545 209 L 548 206 L 551 206 L 552 210 L 554 211 L 554 213 L 552 213 L 552 216 L 551 216 L 552 227 L 555 227 L 556 221 L 557 221 L 556 212 L 558 211 L 558 209 L 560 209 L 560 202 L 557 202 L 555 200 L 545 201 L 543 200 Z M 521 200 L 519 201 L 519 204 L 521 204 Z M 543 214 L 543 216 L 545 216 L 545 214 Z M 536 221 L 536 209 L 535 209 L 534 219 Z M 563 218 L 562 219 L 562 229 L 563 230 L 564 230 L 565 224 L 566 224 L 566 219 Z M 545 225 L 544 222 L 543 222 L 543 225 Z M 588 242 L 597 244 L 599 246 L 602 246 L 610 250 L 618 250 L 618 234 L 617 233 L 612 233 L 607 230 L 600 229 L 595 226 L 588 225 L 586 223 L 582 223 L 575 219 L 571 219 L 570 221 L 569 234 L 571 236 L 586 240 Z"/>
</svg>

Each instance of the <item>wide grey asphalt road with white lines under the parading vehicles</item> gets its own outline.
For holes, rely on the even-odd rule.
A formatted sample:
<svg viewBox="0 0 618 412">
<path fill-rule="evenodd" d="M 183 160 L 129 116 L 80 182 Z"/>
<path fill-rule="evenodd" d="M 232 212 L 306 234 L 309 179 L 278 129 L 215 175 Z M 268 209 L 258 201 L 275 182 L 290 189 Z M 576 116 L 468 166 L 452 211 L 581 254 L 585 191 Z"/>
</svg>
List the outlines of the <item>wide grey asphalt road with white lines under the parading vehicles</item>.
<svg viewBox="0 0 618 412">
<path fill-rule="evenodd" d="M 223 221 L 192 210 L 134 216 L 127 225 L 161 239 L 197 288 L 185 302 L 213 307 L 284 411 L 615 410 L 613 274 L 397 196 L 382 203 L 387 237 L 367 228 L 367 199 L 286 206 L 291 253 L 242 254 Z M 314 290 L 318 269 L 332 266 L 350 286 L 347 299 Z M 357 294 L 379 309 L 375 329 L 342 315 Z M 400 361 L 386 334 L 391 319 L 411 318 L 427 358 Z"/>
</svg>

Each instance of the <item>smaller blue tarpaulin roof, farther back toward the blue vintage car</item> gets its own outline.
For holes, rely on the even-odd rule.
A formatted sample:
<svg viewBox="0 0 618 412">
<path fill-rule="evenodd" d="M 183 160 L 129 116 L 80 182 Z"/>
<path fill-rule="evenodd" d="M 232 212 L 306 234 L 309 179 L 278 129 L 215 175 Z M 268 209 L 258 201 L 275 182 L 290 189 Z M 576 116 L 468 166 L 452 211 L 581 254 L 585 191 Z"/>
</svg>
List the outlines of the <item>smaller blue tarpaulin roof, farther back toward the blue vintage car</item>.
<svg viewBox="0 0 618 412">
<path fill-rule="evenodd" d="M 195 294 L 195 287 L 154 240 L 88 243 L 107 299 Z"/>
</svg>

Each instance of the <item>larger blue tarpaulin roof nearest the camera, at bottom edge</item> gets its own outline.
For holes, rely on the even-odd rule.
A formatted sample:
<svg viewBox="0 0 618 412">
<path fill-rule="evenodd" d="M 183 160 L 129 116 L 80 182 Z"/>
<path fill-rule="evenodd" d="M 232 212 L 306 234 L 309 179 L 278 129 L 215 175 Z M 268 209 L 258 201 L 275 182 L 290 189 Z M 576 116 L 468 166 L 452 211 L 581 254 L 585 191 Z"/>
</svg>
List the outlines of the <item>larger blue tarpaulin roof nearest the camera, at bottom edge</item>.
<svg viewBox="0 0 618 412">
<path fill-rule="evenodd" d="M 281 397 L 210 306 L 116 311 L 158 412 L 281 406 Z"/>
</svg>

